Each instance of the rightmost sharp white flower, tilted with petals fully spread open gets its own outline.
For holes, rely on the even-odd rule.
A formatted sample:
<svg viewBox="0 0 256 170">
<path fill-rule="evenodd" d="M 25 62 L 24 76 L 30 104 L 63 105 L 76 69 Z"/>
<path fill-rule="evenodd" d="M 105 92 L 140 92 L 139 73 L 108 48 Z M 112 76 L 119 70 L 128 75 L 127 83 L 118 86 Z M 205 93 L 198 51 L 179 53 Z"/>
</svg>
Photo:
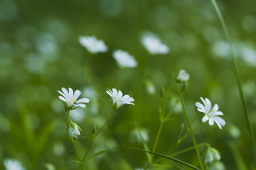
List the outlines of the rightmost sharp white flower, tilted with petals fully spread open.
<svg viewBox="0 0 256 170">
<path fill-rule="evenodd" d="M 221 111 L 218 111 L 218 105 L 215 104 L 214 107 L 211 109 L 211 104 L 210 104 L 210 100 L 205 98 L 205 100 L 200 97 L 200 99 L 203 101 L 204 105 L 197 102 L 196 103 L 196 107 L 197 110 L 199 112 L 203 112 L 205 113 L 205 116 L 202 119 L 202 122 L 206 122 L 209 120 L 209 125 L 212 126 L 214 124 L 214 122 L 216 122 L 216 124 L 218 125 L 218 128 L 221 129 L 221 126 L 224 126 L 226 124 L 226 122 L 218 117 L 219 115 L 223 115 L 223 113 Z"/>
</svg>

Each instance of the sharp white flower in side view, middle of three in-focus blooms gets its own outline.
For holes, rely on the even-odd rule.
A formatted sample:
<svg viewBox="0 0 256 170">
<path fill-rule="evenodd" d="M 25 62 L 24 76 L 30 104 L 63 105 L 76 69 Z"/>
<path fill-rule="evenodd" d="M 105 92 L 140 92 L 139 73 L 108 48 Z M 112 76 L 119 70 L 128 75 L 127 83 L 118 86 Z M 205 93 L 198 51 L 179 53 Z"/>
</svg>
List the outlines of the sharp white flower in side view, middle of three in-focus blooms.
<svg viewBox="0 0 256 170">
<path fill-rule="evenodd" d="M 113 91 L 113 92 L 112 92 Z M 119 109 L 125 104 L 133 104 L 131 101 L 134 101 L 133 97 L 129 95 L 124 95 L 121 91 L 118 91 L 115 88 L 112 88 L 112 91 L 106 91 L 112 97 L 112 107 L 113 109 Z"/>
</svg>

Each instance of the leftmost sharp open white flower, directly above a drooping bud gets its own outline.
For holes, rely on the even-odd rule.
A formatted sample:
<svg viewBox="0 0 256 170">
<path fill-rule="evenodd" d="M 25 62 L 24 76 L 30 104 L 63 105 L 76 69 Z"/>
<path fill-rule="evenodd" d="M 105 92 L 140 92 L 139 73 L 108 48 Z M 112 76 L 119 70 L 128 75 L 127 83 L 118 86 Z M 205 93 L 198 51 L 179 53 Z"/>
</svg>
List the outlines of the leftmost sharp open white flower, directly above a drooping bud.
<svg viewBox="0 0 256 170">
<path fill-rule="evenodd" d="M 61 88 L 61 90 L 64 92 L 64 94 L 61 91 L 58 91 L 58 92 L 61 95 L 63 95 L 64 97 L 59 96 L 59 98 L 60 98 L 60 100 L 64 101 L 66 109 L 73 110 L 73 109 L 76 109 L 77 107 L 85 108 L 86 105 L 83 103 L 89 103 L 89 101 L 90 101 L 89 99 L 86 99 L 86 98 L 77 100 L 81 94 L 81 92 L 79 90 L 76 90 L 74 95 L 73 95 L 72 88 L 68 88 L 69 92 L 64 87 Z"/>
</svg>

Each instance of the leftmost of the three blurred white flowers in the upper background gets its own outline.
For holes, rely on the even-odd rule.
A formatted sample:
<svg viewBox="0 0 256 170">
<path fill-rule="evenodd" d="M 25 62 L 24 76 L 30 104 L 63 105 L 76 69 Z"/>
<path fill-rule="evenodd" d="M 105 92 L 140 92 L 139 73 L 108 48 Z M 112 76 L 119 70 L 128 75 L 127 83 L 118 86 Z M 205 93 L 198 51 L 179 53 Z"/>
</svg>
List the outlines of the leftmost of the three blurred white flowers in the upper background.
<svg viewBox="0 0 256 170">
<path fill-rule="evenodd" d="M 104 41 L 97 40 L 95 36 L 80 36 L 79 41 L 90 53 L 104 53 L 108 51 L 108 46 Z"/>
</svg>

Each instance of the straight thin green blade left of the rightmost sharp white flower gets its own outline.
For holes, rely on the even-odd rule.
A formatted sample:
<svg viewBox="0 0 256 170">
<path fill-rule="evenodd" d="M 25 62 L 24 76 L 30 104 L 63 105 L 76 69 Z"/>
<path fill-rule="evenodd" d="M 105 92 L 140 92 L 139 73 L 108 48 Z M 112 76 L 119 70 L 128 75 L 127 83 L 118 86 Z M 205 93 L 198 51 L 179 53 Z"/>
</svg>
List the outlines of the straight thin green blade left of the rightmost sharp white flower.
<svg viewBox="0 0 256 170">
<path fill-rule="evenodd" d="M 175 77 L 174 77 L 174 74 L 172 74 L 173 78 L 174 78 L 174 82 L 175 82 L 175 85 L 176 85 L 176 88 L 177 88 L 177 92 L 179 94 L 179 97 L 180 97 L 180 102 L 181 102 L 181 105 L 183 107 L 183 111 L 184 111 L 184 115 L 185 115 L 185 118 L 186 118 L 186 121 L 187 121 L 187 124 L 188 124 L 188 128 L 190 130 L 190 133 L 191 133 L 191 137 L 192 137 L 192 140 L 193 140 L 193 143 L 194 143 L 194 146 L 195 146 L 195 150 L 196 150 L 196 154 L 197 154 L 197 158 L 199 160 L 199 164 L 201 166 L 201 169 L 204 170 L 204 165 L 203 165 L 203 162 L 201 160 L 201 156 L 200 156 L 200 153 L 199 153 L 199 149 L 197 147 L 197 144 L 196 144 L 196 138 L 195 138 L 195 135 L 193 134 L 193 130 L 191 128 L 191 124 L 189 122 L 189 118 L 188 118 L 188 114 L 187 114 L 187 111 L 185 109 L 185 105 L 183 103 L 183 100 L 182 100 L 182 97 L 181 97 L 181 94 L 180 94 L 180 90 L 179 90 L 179 87 L 177 86 L 177 83 L 176 83 L 176 80 L 175 80 Z"/>
</svg>

